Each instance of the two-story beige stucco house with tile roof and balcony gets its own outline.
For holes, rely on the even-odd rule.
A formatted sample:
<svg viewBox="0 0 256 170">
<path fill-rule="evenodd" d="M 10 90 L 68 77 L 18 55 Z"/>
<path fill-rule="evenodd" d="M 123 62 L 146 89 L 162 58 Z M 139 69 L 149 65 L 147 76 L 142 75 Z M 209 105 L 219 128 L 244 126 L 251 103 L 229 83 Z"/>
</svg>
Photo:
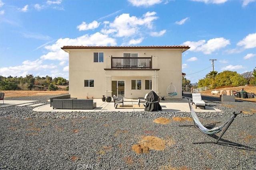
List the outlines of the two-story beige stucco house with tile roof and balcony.
<svg viewBox="0 0 256 170">
<path fill-rule="evenodd" d="M 182 98 L 182 53 L 188 46 L 64 46 L 69 53 L 69 94 L 76 98 L 167 95 L 172 83 Z"/>
</svg>

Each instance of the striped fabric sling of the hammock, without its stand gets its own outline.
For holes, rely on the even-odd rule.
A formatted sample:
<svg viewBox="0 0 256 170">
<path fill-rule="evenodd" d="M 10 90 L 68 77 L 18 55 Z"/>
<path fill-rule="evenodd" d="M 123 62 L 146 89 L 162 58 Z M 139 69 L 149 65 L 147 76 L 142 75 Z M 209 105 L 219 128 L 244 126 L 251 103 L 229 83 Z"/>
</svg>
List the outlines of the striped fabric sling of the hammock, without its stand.
<svg viewBox="0 0 256 170">
<path fill-rule="evenodd" d="M 196 112 L 194 111 L 190 101 L 188 100 L 188 104 L 189 104 L 189 107 L 190 107 L 190 112 L 191 112 L 191 115 L 192 115 L 192 118 L 194 120 L 194 123 L 199 127 L 199 129 L 206 133 L 206 134 L 215 134 L 215 133 L 218 133 L 220 131 L 222 131 L 222 128 L 234 117 L 233 115 L 221 126 L 218 126 L 218 127 L 214 127 L 213 129 L 207 129 L 206 127 L 204 127 L 204 125 L 202 125 L 202 123 L 199 121 L 197 115 L 196 115 Z"/>
</svg>

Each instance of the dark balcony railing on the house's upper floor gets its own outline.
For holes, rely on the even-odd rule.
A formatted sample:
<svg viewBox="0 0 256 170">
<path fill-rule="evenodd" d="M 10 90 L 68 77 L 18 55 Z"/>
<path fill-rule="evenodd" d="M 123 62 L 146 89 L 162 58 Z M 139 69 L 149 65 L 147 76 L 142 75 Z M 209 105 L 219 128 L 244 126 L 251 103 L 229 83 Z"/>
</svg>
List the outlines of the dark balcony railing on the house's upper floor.
<svg viewBox="0 0 256 170">
<path fill-rule="evenodd" d="M 151 57 L 111 57 L 111 68 L 152 69 Z"/>
</svg>

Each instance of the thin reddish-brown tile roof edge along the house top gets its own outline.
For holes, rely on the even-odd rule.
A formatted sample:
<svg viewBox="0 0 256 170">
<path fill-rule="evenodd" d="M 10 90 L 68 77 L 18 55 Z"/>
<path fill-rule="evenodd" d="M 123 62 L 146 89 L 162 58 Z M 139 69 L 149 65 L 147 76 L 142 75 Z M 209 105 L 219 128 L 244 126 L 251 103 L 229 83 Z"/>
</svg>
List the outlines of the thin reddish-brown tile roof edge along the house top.
<svg viewBox="0 0 256 170">
<path fill-rule="evenodd" d="M 165 45 L 165 46 L 63 46 L 61 49 L 190 49 L 185 45 Z"/>
</svg>

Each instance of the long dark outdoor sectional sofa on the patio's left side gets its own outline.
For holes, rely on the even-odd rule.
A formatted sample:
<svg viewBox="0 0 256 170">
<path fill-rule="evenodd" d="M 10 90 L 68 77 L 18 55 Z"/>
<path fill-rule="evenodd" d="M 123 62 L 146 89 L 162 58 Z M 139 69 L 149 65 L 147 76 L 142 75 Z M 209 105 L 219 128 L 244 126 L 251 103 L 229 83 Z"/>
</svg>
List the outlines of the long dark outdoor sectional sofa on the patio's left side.
<svg viewBox="0 0 256 170">
<path fill-rule="evenodd" d="M 93 99 L 52 99 L 53 109 L 94 109 Z"/>
</svg>

